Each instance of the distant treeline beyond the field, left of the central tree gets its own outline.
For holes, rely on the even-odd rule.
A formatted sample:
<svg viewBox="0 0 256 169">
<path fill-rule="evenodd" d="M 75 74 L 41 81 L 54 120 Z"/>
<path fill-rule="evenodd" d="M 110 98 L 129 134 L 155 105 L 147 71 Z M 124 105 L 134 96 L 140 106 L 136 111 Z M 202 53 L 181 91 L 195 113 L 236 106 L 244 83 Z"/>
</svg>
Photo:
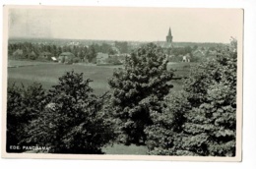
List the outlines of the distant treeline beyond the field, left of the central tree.
<svg viewBox="0 0 256 169">
<path fill-rule="evenodd" d="M 96 62 L 96 53 L 102 52 L 109 55 L 117 53 L 127 53 L 129 51 L 127 42 L 115 41 L 113 47 L 107 43 L 91 44 L 91 45 L 75 45 L 66 44 L 63 46 L 57 46 L 55 44 L 47 43 L 31 43 L 31 42 L 18 42 L 9 43 L 8 55 L 14 59 L 46 59 L 50 60 L 51 57 L 58 57 L 62 52 L 71 52 L 80 61 Z"/>
</svg>

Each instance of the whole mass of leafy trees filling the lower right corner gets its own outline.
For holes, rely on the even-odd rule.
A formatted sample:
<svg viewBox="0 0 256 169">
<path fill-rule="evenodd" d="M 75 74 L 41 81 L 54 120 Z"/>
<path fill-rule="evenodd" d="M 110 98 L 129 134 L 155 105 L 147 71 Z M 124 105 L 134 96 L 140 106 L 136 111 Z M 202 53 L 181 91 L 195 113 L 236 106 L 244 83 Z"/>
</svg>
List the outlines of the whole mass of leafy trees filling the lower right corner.
<svg viewBox="0 0 256 169">
<path fill-rule="evenodd" d="M 234 156 L 236 60 L 232 47 L 191 70 L 184 90 L 146 132 L 151 154 Z"/>
</svg>

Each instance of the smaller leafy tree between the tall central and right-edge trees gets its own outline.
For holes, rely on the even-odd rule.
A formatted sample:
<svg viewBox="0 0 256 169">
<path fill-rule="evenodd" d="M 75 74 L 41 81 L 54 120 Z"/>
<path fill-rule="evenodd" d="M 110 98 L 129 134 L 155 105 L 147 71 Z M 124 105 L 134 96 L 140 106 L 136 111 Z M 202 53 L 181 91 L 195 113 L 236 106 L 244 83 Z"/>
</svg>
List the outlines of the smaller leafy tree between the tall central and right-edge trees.
<svg viewBox="0 0 256 169">
<path fill-rule="evenodd" d="M 176 155 L 182 140 L 182 125 L 186 121 L 184 115 L 191 108 L 184 91 L 173 92 L 165 97 L 166 107 L 161 114 L 154 115 L 153 125 L 145 132 L 149 154 Z"/>
</svg>

